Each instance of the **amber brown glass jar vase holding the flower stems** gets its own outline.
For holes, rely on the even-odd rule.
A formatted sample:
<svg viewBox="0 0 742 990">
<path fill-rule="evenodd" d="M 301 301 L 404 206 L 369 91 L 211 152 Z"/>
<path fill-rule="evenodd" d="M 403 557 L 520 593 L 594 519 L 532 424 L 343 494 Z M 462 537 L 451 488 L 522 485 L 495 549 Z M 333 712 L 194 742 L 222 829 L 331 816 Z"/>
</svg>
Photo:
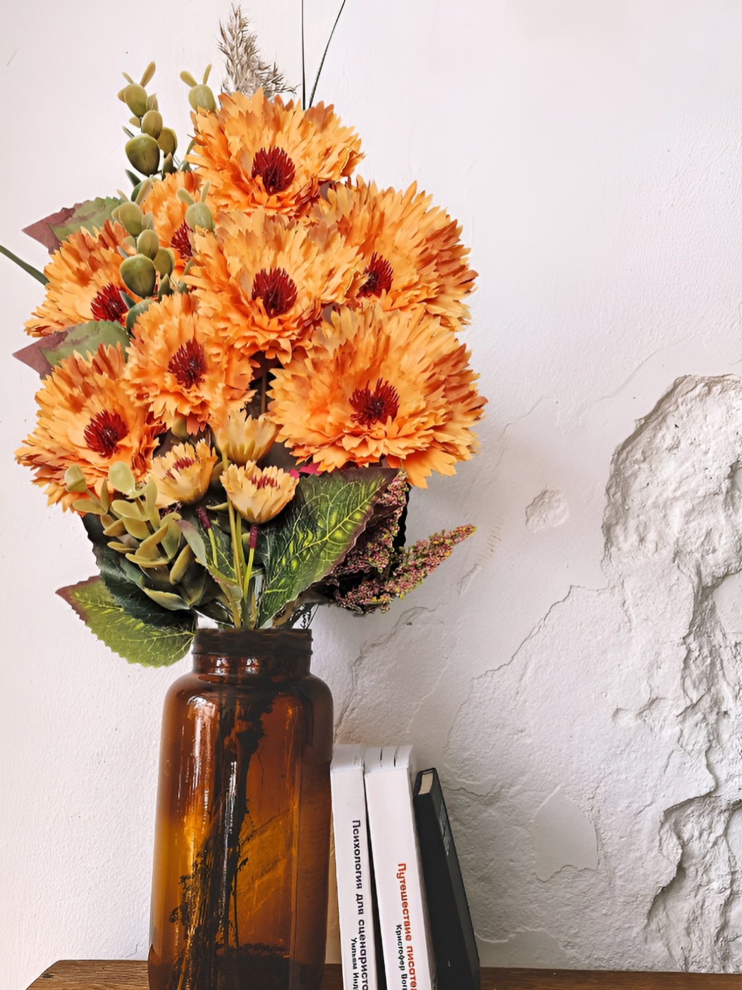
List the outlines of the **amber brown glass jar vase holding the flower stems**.
<svg viewBox="0 0 742 990">
<path fill-rule="evenodd" d="M 200 630 L 167 693 L 150 990 L 319 990 L 332 699 L 312 634 Z"/>
</svg>

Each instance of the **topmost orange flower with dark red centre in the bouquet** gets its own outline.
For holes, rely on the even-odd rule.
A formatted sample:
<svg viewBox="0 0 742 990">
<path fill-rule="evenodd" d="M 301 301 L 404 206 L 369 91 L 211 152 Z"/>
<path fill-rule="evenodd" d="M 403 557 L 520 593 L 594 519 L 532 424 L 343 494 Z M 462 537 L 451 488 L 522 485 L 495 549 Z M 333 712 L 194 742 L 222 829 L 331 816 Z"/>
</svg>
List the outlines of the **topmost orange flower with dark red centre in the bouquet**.
<svg viewBox="0 0 742 990">
<path fill-rule="evenodd" d="M 350 175 L 360 158 L 360 140 L 340 125 L 332 107 L 302 110 L 280 96 L 242 93 L 220 97 L 218 113 L 194 116 L 196 145 L 188 161 L 211 181 L 216 210 L 296 216 L 316 199 L 323 182 Z"/>
</svg>

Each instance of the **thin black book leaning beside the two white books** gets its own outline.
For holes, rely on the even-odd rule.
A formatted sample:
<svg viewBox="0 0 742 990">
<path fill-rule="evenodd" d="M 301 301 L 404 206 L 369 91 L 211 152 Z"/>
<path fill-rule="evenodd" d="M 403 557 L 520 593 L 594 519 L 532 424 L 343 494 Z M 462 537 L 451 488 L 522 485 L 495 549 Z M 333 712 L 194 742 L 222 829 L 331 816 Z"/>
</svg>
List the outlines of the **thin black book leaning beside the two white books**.
<svg viewBox="0 0 742 990">
<path fill-rule="evenodd" d="M 417 774 L 413 807 L 438 990 L 481 990 L 477 942 L 435 769 Z"/>
</svg>

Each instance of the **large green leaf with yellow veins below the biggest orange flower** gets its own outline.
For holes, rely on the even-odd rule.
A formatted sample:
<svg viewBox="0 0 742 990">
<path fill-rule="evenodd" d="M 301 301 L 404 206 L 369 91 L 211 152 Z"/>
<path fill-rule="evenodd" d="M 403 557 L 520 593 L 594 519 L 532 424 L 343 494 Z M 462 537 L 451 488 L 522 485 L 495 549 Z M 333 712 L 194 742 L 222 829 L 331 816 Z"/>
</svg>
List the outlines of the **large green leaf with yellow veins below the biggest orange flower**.
<svg viewBox="0 0 742 990">
<path fill-rule="evenodd" d="M 302 478 L 284 512 L 260 527 L 257 552 L 265 577 L 259 626 L 325 577 L 347 553 L 396 476 L 390 468 L 354 467 Z"/>
</svg>

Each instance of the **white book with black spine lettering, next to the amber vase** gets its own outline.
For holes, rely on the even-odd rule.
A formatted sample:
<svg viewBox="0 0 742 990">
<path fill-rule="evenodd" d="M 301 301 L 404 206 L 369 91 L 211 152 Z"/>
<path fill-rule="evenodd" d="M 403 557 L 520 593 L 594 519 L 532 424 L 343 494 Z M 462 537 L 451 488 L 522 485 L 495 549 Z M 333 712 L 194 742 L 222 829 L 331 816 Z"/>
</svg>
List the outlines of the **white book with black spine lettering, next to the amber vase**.
<svg viewBox="0 0 742 990">
<path fill-rule="evenodd" d="M 336 745 L 329 767 L 344 990 L 377 990 L 363 746 Z"/>
</svg>

